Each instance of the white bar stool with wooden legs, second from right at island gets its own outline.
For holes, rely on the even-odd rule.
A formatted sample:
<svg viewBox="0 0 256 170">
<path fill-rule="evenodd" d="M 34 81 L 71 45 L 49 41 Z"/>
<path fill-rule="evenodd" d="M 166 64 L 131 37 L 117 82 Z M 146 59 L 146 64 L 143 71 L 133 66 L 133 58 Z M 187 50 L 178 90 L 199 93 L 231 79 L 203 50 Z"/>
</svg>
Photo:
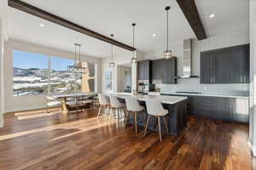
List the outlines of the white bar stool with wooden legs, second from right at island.
<svg viewBox="0 0 256 170">
<path fill-rule="evenodd" d="M 144 107 L 139 105 L 139 103 L 137 102 L 137 99 L 132 98 L 132 97 L 127 97 L 125 98 L 125 103 L 126 103 L 126 108 L 127 108 L 127 114 L 125 117 L 125 127 L 126 127 L 126 123 L 128 122 L 128 118 L 129 118 L 129 114 L 133 113 L 133 118 L 134 118 L 134 124 L 135 124 L 135 133 L 137 135 L 137 113 L 141 113 L 143 116 L 143 112 L 144 111 Z M 143 123 L 145 126 L 145 118 L 143 116 Z"/>
</svg>

